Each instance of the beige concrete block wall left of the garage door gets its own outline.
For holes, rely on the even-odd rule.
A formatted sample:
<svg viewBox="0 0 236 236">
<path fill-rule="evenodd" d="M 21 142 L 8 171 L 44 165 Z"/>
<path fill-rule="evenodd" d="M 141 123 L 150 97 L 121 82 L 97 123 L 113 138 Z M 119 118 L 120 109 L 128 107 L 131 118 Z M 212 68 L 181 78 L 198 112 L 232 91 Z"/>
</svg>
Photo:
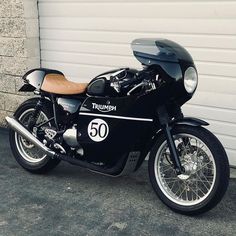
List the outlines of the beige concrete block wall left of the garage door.
<svg viewBox="0 0 236 236">
<path fill-rule="evenodd" d="M 22 75 L 40 66 L 37 0 L 0 0 L 0 126 L 29 95 Z"/>
</svg>

